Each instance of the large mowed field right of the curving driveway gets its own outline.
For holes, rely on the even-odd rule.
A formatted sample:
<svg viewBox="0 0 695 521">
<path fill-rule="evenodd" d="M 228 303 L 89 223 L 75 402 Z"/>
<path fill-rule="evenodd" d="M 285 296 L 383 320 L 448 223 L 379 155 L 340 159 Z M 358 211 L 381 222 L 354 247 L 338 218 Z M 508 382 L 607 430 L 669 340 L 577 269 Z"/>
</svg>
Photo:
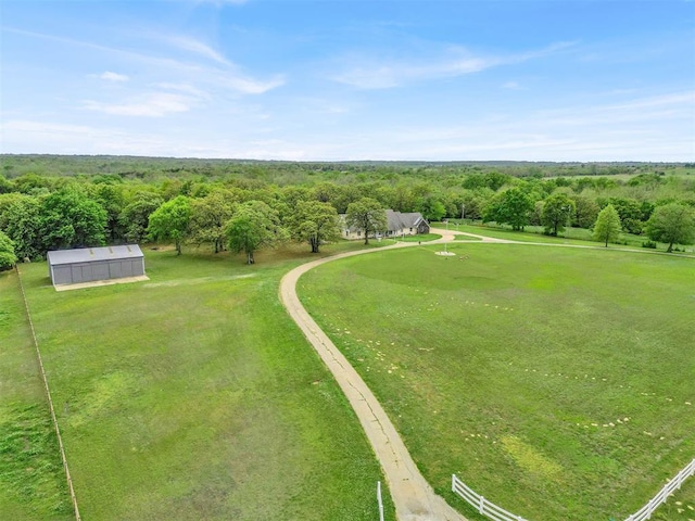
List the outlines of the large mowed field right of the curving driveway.
<svg viewBox="0 0 695 521">
<path fill-rule="evenodd" d="M 695 457 L 695 259 L 435 250 L 330 263 L 300 294 L 469 519 L 452 473 L 531 521 L 621 520 Z M 653 519 L 693 509 L 691 480 Z"/>
</svg>

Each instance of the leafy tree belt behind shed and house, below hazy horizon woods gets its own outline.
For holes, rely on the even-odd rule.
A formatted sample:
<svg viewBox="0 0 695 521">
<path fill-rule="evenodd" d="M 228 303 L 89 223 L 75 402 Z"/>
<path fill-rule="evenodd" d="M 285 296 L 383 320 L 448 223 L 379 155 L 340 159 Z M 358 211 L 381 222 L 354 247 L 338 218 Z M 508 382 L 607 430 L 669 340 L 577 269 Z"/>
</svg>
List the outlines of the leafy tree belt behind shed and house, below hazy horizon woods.
<svg viewBox="0 0 695 521">
<path fill-rule="evenodd" d="M 165 164 L 174 168 L 176 160 Z M 695 176 L 687 171 L 546 178 L 471 170 L 475 165 L 230 164 L 233 168 L 226 168 L 233 171 L 214 177 L 179 171 L 149 182 L 123 173 L 13 176 L 7 173 L 15 168 L 4 168 L 0 263 L 43 258 L 50 250 L 150 240 L 170 241 L 178 253 L 184 244 L 245 252 L 248 262 L 253 251 L 286 240 L 306 242 L 317 252 L 339 237 L 338 214 L 353 219 L 365 205 L 420 212 L 429 221 L 463 217 L 516 230 L 536 225 L 548 234 L 567 226 L 603 230 L 606 215 L 615 212 L 619 230 L 666 242 L 669 251 L 693 236 Z M 292 178 L 298 182 L 288 183 Z M 381 217 L 375 218 L 378 229 Z M 615 231 L 607 241 L 596 236 L 606 244 L 616 238 Z"/>
</svg>

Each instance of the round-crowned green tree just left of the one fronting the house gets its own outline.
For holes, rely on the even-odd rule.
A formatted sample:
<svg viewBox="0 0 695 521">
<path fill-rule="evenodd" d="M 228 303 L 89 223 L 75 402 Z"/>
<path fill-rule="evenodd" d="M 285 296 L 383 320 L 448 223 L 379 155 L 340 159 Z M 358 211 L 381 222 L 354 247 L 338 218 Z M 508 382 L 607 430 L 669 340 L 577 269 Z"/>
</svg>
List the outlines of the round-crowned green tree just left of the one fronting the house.
<svg viewBox="0 0 695 521">
<path fill-rule="evenodd" d="M 323 242 L 340 237 L 338 212 L 329 203 L 320 201 L 299 201 L 287 225 L 292 239 L 307 241 L 312 253 L 318 253 Z"/>
</svg>

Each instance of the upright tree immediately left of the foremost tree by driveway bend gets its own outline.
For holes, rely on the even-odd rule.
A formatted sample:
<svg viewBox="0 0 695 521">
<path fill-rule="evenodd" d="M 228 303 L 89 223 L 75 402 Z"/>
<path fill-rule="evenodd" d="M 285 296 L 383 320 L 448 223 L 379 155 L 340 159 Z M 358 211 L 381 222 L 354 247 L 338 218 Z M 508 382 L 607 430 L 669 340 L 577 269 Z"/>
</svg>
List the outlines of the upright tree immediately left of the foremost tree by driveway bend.
<svg viewBox="0 0 695 521">
<path fill-rule="evenodd" d="M 191 201 L 188 240 L 194 244 L 213 244 L 215 253 L 225 246 L 225 226 L 233 215 L 231 192 L 216 190 Z"/>
</svg>

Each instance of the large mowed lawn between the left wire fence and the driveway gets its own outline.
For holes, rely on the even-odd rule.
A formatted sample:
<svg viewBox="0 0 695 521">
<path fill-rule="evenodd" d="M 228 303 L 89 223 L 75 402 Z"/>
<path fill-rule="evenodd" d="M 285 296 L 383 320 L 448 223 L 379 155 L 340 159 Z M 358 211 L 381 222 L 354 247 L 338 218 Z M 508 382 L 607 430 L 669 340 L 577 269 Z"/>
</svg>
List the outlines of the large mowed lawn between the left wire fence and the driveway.
<svg viewBox="0 0 695 521">
<path fill-rule="evenodd" d="M 148 250 L 149 282 L 60 293 L 22 266 L 84 519 L 378 517 L 378 462 L 277 296 L 306 250 Z"/>
</svg>

